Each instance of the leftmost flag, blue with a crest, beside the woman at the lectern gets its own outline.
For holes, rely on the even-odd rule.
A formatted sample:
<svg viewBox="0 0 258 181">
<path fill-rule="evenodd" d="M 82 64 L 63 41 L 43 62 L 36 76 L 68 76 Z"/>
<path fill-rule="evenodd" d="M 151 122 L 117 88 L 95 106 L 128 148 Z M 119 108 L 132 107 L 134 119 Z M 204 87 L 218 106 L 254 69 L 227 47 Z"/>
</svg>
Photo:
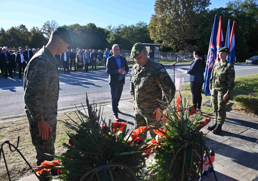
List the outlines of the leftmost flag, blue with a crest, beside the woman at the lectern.
<svg viewBox="0 0 258 181">
<path fill-rule="evenodd" d="M 210 95 L 210 75 L 216 59 L 216 29 L 217 29 L 217 15 L 215 15 L 212 34 L 210 36 L 210 46 L 208 50 L 207 64 L 205 69 L 203 90 L 206 96 Z"/>
</svg>

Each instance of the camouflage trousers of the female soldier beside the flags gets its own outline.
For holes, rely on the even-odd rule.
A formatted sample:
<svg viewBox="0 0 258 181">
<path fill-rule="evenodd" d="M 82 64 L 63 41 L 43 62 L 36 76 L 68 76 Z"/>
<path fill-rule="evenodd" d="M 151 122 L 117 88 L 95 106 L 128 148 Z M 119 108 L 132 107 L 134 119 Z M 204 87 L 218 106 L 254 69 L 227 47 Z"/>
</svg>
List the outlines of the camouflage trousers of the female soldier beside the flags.
<svg viewBox="0 0 258 181">
<path fill-rule="evenodd" d="M 214 123 L 224 124 L 226 118 L 226 104 L 229 101 L 229 96 L 226 101 L 223 101 L 223 96 L 227 93 L 227 90 L 216 90 L 212 88 L 211 102 L 214 109 Z"/>
</svg>

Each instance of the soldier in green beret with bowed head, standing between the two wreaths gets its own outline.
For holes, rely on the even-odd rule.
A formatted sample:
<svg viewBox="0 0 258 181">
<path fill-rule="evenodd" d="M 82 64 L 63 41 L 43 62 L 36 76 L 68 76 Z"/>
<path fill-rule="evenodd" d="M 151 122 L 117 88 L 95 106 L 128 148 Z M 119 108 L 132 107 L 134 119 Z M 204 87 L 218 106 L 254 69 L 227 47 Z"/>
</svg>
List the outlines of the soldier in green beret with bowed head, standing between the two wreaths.
<svg viewBox="0 0 258 181">
<path fill-rule="evenodd" d="M 131 58 L 134 58 L 136 64 L 131 72 L 130 93 L 134 100 L 134 128 L 140 126 L 153 125 L 161 127 L 159 120 L 161 112 L 166 109 L 159 105 L 159 100 L 164 100 L 162 86 L 166 96 L 169 99 L 169 92 L 172 90 L 172 96 L 175 96 L 175 85 L 162 64 L 148 59 L 148 52 L 142 43 L 136 43 L 131 52 Z M 156 134 L 150 130 L 151 137 Z M 147 135 L 142 138 L 145 140 Z"/>
</svg>

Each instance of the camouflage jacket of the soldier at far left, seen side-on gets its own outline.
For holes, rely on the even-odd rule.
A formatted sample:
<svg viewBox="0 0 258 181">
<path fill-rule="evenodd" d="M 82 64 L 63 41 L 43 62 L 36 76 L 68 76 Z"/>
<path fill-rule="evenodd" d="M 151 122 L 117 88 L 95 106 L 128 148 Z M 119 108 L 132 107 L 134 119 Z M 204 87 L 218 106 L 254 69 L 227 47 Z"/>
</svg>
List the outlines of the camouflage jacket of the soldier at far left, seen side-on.
<svg viewBox="0 0 258 181">
<path fill-rule="evenodd" d="M 25 113 L 34 122 L 57 114 L 59 78 L 57 62 L 43 46 L 31 58 L 24 71 Z"/>
</svg>

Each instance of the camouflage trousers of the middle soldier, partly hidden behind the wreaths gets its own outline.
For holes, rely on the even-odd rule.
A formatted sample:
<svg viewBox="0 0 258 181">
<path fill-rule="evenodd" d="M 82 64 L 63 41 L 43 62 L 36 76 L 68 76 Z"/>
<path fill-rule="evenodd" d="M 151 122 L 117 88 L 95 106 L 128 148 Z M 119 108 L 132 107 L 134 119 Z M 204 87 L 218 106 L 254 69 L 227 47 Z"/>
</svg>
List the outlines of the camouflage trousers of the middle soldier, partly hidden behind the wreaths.
<svg viewBox="0 0 258 181">
<path fill-rule="evenodd" d="M 134 129 L 137 129 L 141 126 L 156 126 L 160 128 L 162 125 L 159 121 L 156 120 L 156 113 L 153 114 L 153 111 L 150 110 L 149 114 L 142 114 L 140 111 L 136 108 L 134 110 Z M 150 136 L 152 138 L 155 138 L 156 134 L 153 132 L 153 130 L 150 130 Z M 140 136 L 143 140 L 146 140 L 147 133 Z"/>
</svg>

